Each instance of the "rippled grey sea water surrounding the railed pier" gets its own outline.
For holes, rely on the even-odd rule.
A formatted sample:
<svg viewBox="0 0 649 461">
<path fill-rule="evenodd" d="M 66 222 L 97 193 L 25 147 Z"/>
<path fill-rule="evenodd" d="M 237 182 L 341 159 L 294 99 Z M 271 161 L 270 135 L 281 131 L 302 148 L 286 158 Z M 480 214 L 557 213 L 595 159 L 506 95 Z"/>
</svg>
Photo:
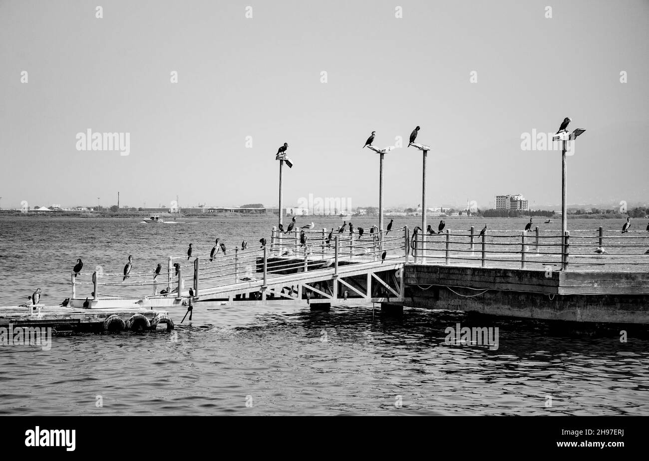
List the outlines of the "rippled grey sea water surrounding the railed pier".
<svg viewBox="0 0 649 461">
<path fill-rule="evenodd" d="M 617 230 L 622 224 L 612 221 L 577 226 Z M 524 222 L 489 220 L 489 227 L 519 229 Z M 452 223 L 458 229 L 483 224 Z M 88 270 L 101 265 L 120 272 L 132 254 L 134 270 L 153 270 L 167 255 L 184 254 L 190 242 L 201 253 L 215 237 L 228 248 L 242 239 L 252 246 L 273 224 L 255 217 L 177 226 L 0 219 L 0 305 L 25 302 L 36 287 L 43 303 L 60 302 L 69 296 L 77 257 Z M 417 221 L 398 224 L 412 228 Z M 60 336 L 49 351 L 0 346 L 0 414 L 649 414 L 649 340 L 631 333 L 621 343 L 618 329 L 576 331 L 424 309 L 390 318 L 371 305 L 328 313 L 273 303 L 197 308 L 182 325 L 184 311 L 170 314 L 175 334 Z M 498 327 L 498 349 L 445 344 L 445 329 L 457 323 Z"/>
</svg>

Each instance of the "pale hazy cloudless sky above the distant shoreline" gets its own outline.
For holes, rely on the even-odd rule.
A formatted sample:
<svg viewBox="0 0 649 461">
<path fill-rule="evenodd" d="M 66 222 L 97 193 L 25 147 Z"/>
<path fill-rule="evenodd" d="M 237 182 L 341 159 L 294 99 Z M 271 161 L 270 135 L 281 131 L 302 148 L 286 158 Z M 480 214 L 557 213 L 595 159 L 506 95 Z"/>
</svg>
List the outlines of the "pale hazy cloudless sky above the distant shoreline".
<svg viewBox="0 0 649 461">
<path fill-rule="evenodd" d="M 558 204 L 561 152 L 520 136 L 566 116 L 587 128 L 568 202 L 648 201 L 648 43 L 646 0 L 1 0 L 0 206 L 270 206 L 284 142 L 286 206 L 376 205 L 361 147 L 416 125 L 430 206 Z M 129 156 L 77 150 L 88 128 L 128 132 Z M 385 181 L 387 206 L 419 204 L 421 152 L 387 154 Z"/>
</svg>

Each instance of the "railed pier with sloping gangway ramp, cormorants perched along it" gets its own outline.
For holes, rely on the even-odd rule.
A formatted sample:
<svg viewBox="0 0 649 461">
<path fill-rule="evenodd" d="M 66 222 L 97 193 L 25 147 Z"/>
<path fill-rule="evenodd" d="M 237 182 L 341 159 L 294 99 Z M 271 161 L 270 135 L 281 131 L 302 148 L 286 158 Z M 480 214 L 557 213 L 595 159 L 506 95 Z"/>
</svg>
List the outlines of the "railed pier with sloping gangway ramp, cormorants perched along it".
<svg viewBox="0 0 649 461">
<path fill-rule="evenodd" d="M 153 307 L 233 303 L 310 305 L 380 303 L 576 322 L 649 324 L 649 233 L 602 228 L 556 231 L 417 227 L 390 232 L 271 230 L 265 246 L 169 257 L 167 272 L 72 278 L 73 294 L 92 285 L 93 307 L 145 300 Z M 385 254 L 385 258 L 383 255 Z M 160 289 L 167 287 L 166 294 Z M 90 287 L 88 287 L 90 288 Z M 191 292 L 190 292 L 191 289 Z M 151 290 L 149 294 L 147 291 Z M 156 294 L 153 294 L 155 290 Z M 110 296 L 110 292 L 121 296 Z M 106 294 L 104 294 L 104 292 Z M 130 294 L 127 294 L 129 293 Z M 84 296 L 73 296 L 78 307 Z"/>
</svg>

